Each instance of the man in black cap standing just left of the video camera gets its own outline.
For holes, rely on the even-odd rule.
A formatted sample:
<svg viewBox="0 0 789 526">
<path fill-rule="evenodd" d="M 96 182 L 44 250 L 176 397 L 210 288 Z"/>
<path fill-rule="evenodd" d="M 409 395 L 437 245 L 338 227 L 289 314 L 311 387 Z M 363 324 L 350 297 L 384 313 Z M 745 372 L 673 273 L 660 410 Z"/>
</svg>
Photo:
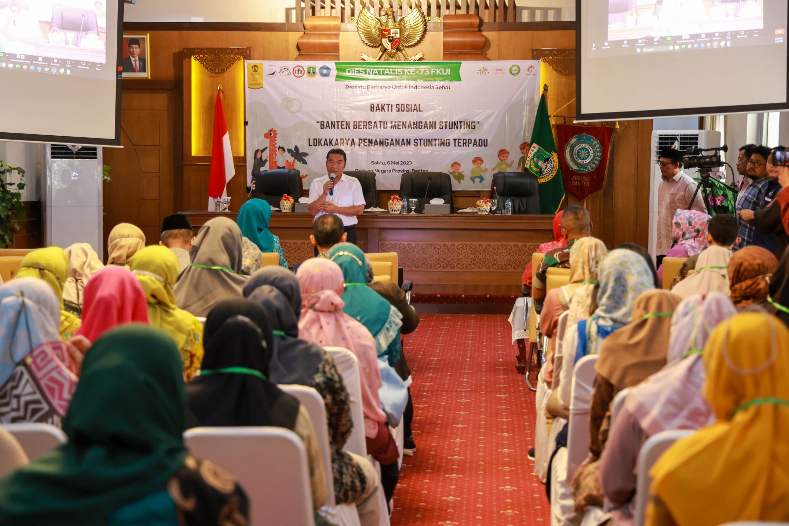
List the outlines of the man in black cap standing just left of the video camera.
<svg viewBox="0 0 789 526">
<path fill-rule="evenodd" d="M 660 175 L 663 180 L 657 190 L 657 266 L 671 248 L 674 235 L 671 223 L 677 210 L 694 209 L 707 213 L 701 190 L 696 193 L 696 182 L 682 171 L 682 152 L 674 148 L 660 150 Z M 693 206 L 690 201 L 693 200 Z"/>
</svg>

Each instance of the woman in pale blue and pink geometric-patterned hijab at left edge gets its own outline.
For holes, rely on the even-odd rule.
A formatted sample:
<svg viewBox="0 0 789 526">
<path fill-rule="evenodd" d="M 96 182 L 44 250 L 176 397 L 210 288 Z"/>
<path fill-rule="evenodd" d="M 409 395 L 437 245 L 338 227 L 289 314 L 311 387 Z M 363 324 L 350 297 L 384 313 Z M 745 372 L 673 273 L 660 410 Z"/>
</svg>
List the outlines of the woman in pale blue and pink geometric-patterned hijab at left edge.
<svg viewBox="0 0 789 526">
<path fill-rule="evenodd" d="M 62 425 L 77 375 L 58 334 L 58 299 L 41 280 L 0 287 L 0 422 Z"/>
</svg>

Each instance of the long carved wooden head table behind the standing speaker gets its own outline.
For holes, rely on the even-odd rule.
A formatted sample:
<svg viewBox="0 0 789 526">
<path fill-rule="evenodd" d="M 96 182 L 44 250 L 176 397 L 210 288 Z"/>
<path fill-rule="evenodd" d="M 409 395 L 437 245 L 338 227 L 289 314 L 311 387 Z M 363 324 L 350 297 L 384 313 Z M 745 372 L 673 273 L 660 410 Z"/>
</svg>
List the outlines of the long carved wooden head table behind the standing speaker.
<svg viewBox="0 0 789 526">
<path fill-rule="evenodd" d="M 237 212 L 178 212 L 197 230 L 212 217 Z M 424 294 L 521 295 L 525 265 L 553 239 L 553 216 L 370 214 L 359 217 L 357 244 L 365 252 L 397 252 L 403 278 Z M 312 257 L 312 216 L 274 213 L 271 231 L 290 265 Z"/>
</svg>

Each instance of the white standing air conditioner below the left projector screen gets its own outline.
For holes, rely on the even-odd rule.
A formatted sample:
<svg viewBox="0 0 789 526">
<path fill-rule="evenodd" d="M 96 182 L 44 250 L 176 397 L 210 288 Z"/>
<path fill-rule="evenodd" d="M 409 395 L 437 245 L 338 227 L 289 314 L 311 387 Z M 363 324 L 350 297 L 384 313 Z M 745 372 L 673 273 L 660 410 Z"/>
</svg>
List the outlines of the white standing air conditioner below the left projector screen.
<svg viewBox="0 0 789 526">
<path fill-rule="evenodd" d="M 44 221 L 47 246 L 88 242 L 103 254 L 102 148 L 47 145 Z"/>
</svg>

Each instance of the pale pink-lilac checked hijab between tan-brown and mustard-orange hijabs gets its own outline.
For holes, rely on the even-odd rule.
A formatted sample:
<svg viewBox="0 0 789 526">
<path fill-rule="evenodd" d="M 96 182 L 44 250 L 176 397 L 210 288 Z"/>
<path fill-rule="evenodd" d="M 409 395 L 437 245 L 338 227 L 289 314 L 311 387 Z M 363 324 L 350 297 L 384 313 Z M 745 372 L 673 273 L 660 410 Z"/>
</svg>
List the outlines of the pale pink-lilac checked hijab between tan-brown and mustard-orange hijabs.
<svg viewBox="0 0 789 526">
<path fill-rule="evenodd" d="M 717 292 L 692 295 L 679 303 L 671 318 L 666 366 L 634 387 L 625 400 L 647 434 L 697 430 L 715 422 L 701 393 L 705 381 L 701 351 L 712 330 L 736 313 L 731 301 Z"/>
</svg>

